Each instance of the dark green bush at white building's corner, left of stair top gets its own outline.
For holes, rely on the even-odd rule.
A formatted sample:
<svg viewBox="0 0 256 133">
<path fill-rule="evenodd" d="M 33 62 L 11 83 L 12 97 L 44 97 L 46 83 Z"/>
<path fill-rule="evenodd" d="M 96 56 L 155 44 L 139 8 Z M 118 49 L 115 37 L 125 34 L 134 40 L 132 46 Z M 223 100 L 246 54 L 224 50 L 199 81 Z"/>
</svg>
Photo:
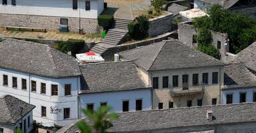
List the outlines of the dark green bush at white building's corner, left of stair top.
<svg viewBox="0 0 256 133">
<path fill-rule="evenodd" d="M 112 26 L 113 21 L 113 15 L 99 15 L 98 17 L 99 26 L 103 27 L 105 30 Z"/>
</svg>

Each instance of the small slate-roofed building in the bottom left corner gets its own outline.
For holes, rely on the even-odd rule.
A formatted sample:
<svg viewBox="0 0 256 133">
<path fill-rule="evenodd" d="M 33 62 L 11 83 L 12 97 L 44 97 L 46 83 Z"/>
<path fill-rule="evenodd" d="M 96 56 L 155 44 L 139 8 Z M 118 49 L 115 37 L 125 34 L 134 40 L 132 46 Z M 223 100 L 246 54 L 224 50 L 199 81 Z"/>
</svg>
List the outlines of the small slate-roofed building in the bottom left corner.
<svg viewBox="0 0 256 133">
<path fill-rule="evenodd" d="M 32 110 L 35 106 L 11 95 L 0 96 L 0 132 L 14 133 L 17 129 L 24 133 L 33 130 Z"/>
</svg>

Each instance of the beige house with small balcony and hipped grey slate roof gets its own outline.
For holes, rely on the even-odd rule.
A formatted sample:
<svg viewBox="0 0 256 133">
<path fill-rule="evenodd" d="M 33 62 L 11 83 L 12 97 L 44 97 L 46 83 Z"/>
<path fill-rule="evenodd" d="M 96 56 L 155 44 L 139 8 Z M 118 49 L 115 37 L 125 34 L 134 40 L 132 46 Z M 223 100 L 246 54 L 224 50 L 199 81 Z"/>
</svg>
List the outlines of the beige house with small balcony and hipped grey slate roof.
<svg viewBox="0 0 256 133">
<path fill-rule="evenodd" d="M 179 41 L 162 41 L 119 53 L 153 86 L 153 109 L 220 104 L 224 63 Z"/>
</svg>

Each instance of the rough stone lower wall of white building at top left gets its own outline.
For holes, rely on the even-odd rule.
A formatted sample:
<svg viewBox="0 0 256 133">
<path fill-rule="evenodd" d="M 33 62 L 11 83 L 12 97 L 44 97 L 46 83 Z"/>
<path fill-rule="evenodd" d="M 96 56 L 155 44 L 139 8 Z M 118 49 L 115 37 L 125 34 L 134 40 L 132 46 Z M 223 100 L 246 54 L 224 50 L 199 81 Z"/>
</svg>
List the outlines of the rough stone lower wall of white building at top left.
<svg viewBox="0 0 256 133">
<path fill-rule="evenodd" d="M 48 31 L 59 30 L 60 19 L 64 17 L 49 17 L 49 16 L 35 16 L 35 15 L 13 15 L 0 13 L 0 27 L 33 27 L 43 28 Z M 68 19 L 69 31 L 79 32 L 79 18 L 65 17 Z M 99 27 L 97 19 L 81 18 L 81 28 L 84 33 L 97 33 Z"/>
</svg>

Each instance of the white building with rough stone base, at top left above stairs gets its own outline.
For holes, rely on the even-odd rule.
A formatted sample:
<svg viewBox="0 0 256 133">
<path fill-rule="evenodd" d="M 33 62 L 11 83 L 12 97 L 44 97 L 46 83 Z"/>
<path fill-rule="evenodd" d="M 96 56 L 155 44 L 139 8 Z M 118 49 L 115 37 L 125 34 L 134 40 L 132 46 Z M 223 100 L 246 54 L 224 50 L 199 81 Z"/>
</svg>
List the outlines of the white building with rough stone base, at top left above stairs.
<svg viewBox="0 0 256 133">
<path fill-rule="evenodd" d="M 97 16 L 103 0 L 1 0 L 0 27 L 31 27 L 47 30 L 66 28 L 85 33 L 97 31 Z"/>
</svg>

